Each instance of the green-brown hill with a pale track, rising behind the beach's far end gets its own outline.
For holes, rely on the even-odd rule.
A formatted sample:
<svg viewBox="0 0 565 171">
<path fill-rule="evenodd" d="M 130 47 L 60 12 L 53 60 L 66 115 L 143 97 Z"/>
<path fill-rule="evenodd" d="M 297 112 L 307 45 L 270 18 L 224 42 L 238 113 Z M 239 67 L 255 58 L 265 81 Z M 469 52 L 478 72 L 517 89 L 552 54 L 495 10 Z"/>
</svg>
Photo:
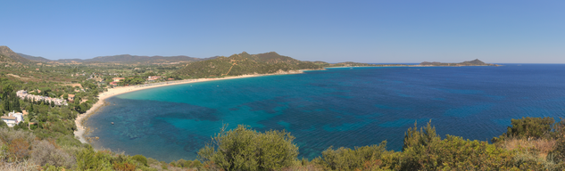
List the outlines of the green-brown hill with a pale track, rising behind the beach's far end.
<svg viewBox="0 0 565 171">
<path fill-rule="evenodd" d="M 322 69 L 311 61 L 298 61 L 278 53 L 239 53 L 220 56 L 207 61 L 188 63 L 176 73 L 189 77 L 241 76 L 246 74 L 271 74 L 298 69 Z"/>
</svg>

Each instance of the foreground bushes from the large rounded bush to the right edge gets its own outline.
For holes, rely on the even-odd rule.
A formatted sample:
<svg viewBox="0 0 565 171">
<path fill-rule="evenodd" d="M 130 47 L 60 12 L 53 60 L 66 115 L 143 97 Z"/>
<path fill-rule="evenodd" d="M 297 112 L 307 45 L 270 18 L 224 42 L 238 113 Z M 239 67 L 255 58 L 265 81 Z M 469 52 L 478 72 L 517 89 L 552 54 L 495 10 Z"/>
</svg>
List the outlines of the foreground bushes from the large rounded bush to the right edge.
<svg viewBox="0 0 565 171">
<path fill-rule="evenodd" d="M 512 119 L 509 132 L 493 144 L 453 135 L 442 139 L 431 123 L 414 125 L 404 134 L 402 151 L 386 151 L 386 142 L 329 147 L 312 160 L 295 158 L 290 134 L 238 126 L 221 131 L 198 155 L 211 170 L 563 170 L 565 122 L 551 121 Z"/>
</svg>

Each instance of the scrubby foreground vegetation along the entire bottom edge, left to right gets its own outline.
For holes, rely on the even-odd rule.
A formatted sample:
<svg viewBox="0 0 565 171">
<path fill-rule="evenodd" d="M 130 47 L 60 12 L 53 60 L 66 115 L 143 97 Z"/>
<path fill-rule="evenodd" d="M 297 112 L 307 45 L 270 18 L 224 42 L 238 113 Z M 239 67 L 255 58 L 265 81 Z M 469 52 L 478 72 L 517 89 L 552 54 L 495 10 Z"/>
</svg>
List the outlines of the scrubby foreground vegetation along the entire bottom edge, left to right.
<svg viewBox="0 0 565 171">
<path fill-rule="evenodd" d="M 28 129 L 0 128 L 0 170 L 563 170 L 565 121 L 512 119 L 509 132 L 494 143 L 464 140 L 436 128 L 409 128 L 402 151 L 386 142 L 333 148 L 316 159 L 298 159 L 294 136 L 256 132 L 249 126 L 221 129 L 198 152 L 199 160 L 165 163 L 129 156 L 68 139 L 40 138 Z M 201 162 L 203 161 L 203 162 Z"/>
</svg>

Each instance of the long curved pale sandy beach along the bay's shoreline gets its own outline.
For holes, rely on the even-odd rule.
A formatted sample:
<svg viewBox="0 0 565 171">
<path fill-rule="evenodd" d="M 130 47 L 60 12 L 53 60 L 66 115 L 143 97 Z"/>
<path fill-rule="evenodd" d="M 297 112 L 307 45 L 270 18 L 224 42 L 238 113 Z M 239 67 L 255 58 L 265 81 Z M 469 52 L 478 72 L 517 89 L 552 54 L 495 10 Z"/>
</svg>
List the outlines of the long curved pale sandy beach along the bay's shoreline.
<svg viewBox="0 0 565 171">
<path fill-rule="evenodd" d="M 189 84 L 189 83 L 198 83 L 198 82 L 205 82 L 205 81 L 216 81 L 216 80 L 225 80 L 225 79 L 234 79 L 234 78 L 243 78 L 243 77 L 261 77 L 261 76 L 272 76 L 272 75 L 283 75 L 283 74 L 301 74 L 303 70 L 290 70 L 290 71 L 279 71 L 273 74 L 253 74 L 253 75 L 243 75 L 243 76 L 236 76 L 236 77 L 220 77 L 220 78 L 198 78 L 198 79 L 185 79 L 179 81 L 168 81 L 168 82 L 159 82 L 159 83 L 152 83 L 147 85 L 129 85 L 129 86 L 119 86 L 115 88 L 108 89 L 107 92 L 98 94 L 98 102 L 96 102 L 92 108 L 87 110 L 87 112 L 80 114 L 75 119 L 75 124 L 77 125 L 77 131 L 74 132 L 75 137 L 77 137 L 80 142 L 88 143 L 87 139 L 84 137 L 87 131 L 86 126 L 82 126 L 82 120 L 87 118 L 93 113 L 96 113 L 100 107 L 104 106 L 104 102 L 107 98 L 110 98 L 114 95 L 118 94 L 126 94 L 130 92 L 135 92 L 138 90 L 145 90 L 149 88 L 161 87 L 161 86 L 168 86 L 168 85 L 181 85 L 181 84 Z"/>
</svg>

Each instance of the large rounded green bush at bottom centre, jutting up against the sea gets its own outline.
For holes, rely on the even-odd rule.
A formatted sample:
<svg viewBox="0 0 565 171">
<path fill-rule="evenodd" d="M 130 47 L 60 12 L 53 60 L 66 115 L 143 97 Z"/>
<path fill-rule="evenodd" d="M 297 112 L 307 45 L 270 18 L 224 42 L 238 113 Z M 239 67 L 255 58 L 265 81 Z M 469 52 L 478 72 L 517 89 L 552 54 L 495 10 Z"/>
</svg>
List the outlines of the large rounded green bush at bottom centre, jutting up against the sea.
<svg viewBox="0 0 565 171">
<path fill-rule="evenodd" d="M 298 155 L 295 139 L 285 131 L 258 133 L 248 126 L 224 126 L 198 157 L 224 170 L 272 170 L 288 167 Z M 193 162 L 194 166 L 194 162 Z"/>
</svg>

